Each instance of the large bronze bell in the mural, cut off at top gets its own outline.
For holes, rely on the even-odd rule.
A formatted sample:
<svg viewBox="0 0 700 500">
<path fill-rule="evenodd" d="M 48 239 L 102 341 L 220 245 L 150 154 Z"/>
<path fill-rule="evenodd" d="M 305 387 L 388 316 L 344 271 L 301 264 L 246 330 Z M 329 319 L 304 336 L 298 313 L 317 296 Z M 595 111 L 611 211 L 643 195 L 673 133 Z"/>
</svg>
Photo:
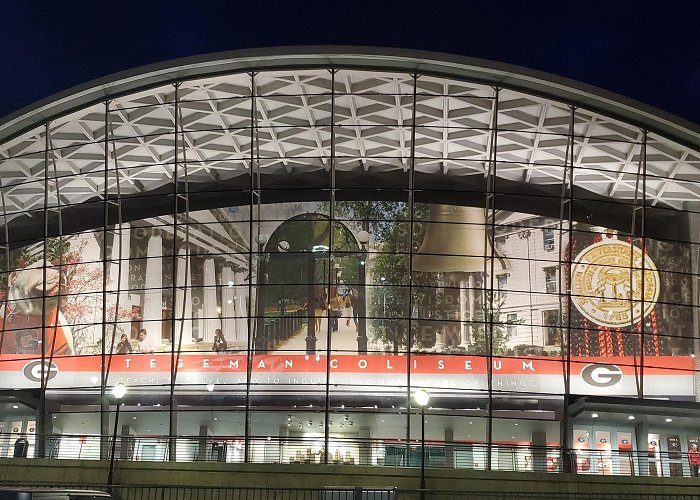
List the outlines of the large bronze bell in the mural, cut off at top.
<svg viewBox="0 0 700 500">
<path fill-rule="evenodd" d="M 413 270 L 483 272 L 484 260 L 492 254 L 485 224 L 483 208 L 430 205 L 430 222 L 423 244 L 413 257 Z"/>
</svg>

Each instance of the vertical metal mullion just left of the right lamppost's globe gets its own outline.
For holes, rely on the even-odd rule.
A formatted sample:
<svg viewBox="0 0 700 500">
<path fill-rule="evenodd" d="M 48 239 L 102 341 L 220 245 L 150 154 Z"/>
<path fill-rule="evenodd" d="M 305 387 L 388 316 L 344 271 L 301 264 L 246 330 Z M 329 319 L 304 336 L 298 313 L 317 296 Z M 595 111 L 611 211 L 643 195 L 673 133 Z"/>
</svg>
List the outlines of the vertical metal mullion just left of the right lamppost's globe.
<svg viewBox="0 0 700 500">
<path fill-rule="evenodd" d="M 406 466 L 409 462 L 411 444 L 411 357 L 413 349 L 413 231 L 415 224 L 414 183 L 416 171 L 416 96 L 418 94 L 418 73 L 413 75 L 413 102 L 411 103 L 411 151 L 408 168 L 408 332 L 406 334 Z M 365 294 L 366 300 L 366 294 Z M 423 457 L 421 457 L 421 460 Z"/>
</svg>

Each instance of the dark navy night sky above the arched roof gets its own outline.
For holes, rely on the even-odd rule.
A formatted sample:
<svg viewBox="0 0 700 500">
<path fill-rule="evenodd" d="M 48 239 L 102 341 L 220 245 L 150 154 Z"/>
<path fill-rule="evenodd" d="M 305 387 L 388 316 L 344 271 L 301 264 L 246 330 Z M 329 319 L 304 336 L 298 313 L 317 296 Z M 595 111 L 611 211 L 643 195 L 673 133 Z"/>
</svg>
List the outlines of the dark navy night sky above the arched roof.
<svg viewBox="0 0 700 500">
<path fill-rule="evenodd" d="M 700 123 L 695 0 L 3 0 L 0 117 L 144 64 L 223 50 L 329 44 L 517 64 Z"/>
</svg>

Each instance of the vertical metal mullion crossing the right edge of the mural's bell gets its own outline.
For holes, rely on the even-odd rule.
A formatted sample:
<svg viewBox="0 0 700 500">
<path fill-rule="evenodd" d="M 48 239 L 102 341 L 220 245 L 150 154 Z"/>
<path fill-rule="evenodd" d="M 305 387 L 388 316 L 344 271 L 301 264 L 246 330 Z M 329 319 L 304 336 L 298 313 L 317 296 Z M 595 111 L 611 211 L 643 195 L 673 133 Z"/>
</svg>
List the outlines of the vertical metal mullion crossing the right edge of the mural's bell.
<svg viewBox="0 0 700 500">
<path fill-rule="evenodd" d="M 499 110 L 499 97 L 500 88 L 494 88 L 494 100 L 493 100 L 493 125 L 491 128 L 491 158 L 489 158 L 489 166 L 486 177 L 486 199 L 485 199 L 485 217 L 486 224 L 489 224 L 489 211 L 491 212 L 491 229 L 490 231 L 484 231 L 484 252 L 488 248 L 487 243 L 491 244 L 491 259 L 490 268 L 487 270 L 486 260 L 484 259 L 484 300 L 487 302 L 484 304 L 484 310 L 488 315 L 488 322 L 484 323 L 484 329 L 486 332 L 486 373 L 487 373 L 487 387 L 488 387 L 488 427 L 487 427 L 487 445 L 486 445 L 486 470 L 491 470 L 491 450 L 493 441 L 493 278 L 495 272 L 495 259 L 496 259 L 496 151 L 498 147 L 498 110 Z M 484 228 L 485 229 L 485 228 Z M 486 257 L 486 256 L 484 256 Z M 528 263 L 529 265 L 529 263 Z M 487 273 L 488 271 L 488 273 Z M 486 276 L 489 275 L 489 286 L 488 292 L 486 292 Z M 486 319 L 486 318 L 484 318 Z"/>
</svg>

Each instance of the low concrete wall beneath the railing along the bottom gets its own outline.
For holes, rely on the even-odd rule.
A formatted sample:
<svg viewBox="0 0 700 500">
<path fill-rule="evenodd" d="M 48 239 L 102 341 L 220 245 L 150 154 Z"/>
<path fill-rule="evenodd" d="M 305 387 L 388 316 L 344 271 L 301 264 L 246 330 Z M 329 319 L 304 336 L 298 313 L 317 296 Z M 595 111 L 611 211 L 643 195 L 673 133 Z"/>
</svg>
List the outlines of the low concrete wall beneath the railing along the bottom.
<svg viewBox="0 0 700 500">
<path fill-rule="evenodd" d="M 47 485 L 104 485 L 108 462 L 50 459 L 0 459 L 0 483 Z M 115 484 L 128 485 L 118 492 L 119 498 L 159 498 L 157 490 L 139 486 L 206 487 L 206 488 L 307 488 L 329 486 L 398 487 L 417 489 L 419 470 L 392 467 L 359 467 L 345 465 L 280 465 L 219 463 L 119 462 L 115 468 Z M 428 469 L 428 491 L 467 492 L 531 492 L 626 495 L 698 495 L 697 479 L 648 478 L 626 476 L 577 476 L 574 474 L 517 473 Z M 138 490 L 138 491 L 137 491 Z M 211 490 L 209 490 L 211 494 Z M 176 495 L 179 496 L 179 495 Z M 188 492 L 195 500 L 200 495 Z M 202 492 L 202 498 L 206 495 Z M 432 495 L 428 493 L 428 498 Z M 314 497 L 317 498 L 317 497 Z M 629 497 L 626 497 L 629 498 Z M 691 497 L 688 497 L 691 498 Z"/>
</svg>

